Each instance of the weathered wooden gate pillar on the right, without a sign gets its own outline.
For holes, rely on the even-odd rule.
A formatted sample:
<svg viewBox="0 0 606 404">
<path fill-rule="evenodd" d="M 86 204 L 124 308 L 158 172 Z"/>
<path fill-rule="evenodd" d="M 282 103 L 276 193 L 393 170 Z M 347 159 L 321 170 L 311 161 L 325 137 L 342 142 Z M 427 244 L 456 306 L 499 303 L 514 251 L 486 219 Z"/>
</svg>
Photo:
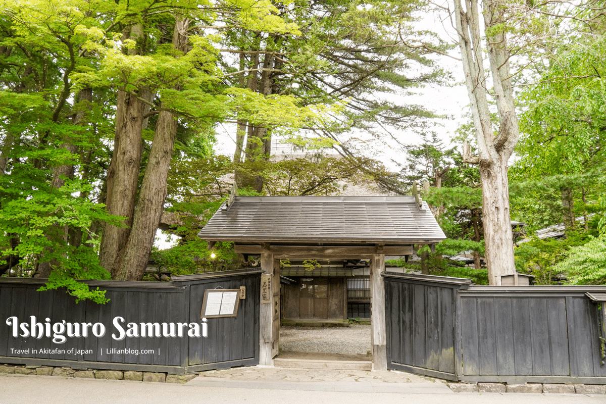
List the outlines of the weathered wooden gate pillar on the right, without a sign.
<svg viewBox="0 0 606 404">
<path fill-rule="evenodd" d="M 370 260 L 370 340 L 373 345 L 373 369 L 387 370 L 387 332 L 385 331 L 385 254 L 373 254 Z"/>
</svg>

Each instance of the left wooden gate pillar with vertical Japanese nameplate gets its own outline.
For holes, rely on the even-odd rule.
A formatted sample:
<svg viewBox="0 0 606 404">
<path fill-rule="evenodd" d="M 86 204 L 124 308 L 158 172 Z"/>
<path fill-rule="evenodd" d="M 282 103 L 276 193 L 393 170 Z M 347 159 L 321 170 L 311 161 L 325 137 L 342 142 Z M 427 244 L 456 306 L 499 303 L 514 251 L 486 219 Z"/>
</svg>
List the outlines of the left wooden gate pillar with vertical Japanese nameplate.
<svg viewBox="0 0 606 404">
<path fill-rule="evenodd" d="M 273 365 L 280 335 L 280 260 L 267 247 L 261 251 L 261 304 L 259 305 L 259 365 Z"/>
</svg>

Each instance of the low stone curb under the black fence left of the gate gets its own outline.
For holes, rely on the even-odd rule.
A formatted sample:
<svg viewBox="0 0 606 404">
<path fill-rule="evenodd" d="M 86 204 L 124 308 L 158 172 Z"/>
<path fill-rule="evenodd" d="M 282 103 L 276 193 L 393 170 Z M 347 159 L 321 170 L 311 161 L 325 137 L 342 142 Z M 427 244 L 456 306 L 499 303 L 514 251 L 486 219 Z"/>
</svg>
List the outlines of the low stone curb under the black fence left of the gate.
<svg viewBox="0 0 606 404">
<path fill-rule="evenodd" d="M 31 374 L 36 376 L 83 377 L 86 379 L 135 380 L 138 382 L 187 383 L 198 376 L 193 374 L 166 374 L 107 369 L 76 370 L 64 366 L 0 365 L 0 373 Z"/>
</svg>

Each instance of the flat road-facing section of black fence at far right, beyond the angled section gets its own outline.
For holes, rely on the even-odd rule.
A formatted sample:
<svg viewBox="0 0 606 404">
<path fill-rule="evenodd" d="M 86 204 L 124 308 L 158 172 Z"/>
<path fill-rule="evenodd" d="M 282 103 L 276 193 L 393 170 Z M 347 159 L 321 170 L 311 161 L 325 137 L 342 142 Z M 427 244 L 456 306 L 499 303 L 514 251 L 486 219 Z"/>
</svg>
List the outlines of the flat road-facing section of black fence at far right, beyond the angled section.
<svg viewBox="0 0 606 404">
<path fill-rule="evenodd" d="M 461 380 L 605 383 L 590 287 L 459 294 Z"/>
</svg>

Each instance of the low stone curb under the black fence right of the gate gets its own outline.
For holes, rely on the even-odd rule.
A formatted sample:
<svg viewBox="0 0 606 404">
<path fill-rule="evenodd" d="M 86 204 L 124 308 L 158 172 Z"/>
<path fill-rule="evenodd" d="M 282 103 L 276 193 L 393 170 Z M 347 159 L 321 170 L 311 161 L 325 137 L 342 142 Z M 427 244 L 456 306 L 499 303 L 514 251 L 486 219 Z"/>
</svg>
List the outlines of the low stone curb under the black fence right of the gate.
<svg viewBox="0 0 606 404">
<path fill-rule="evenodd" d="M 606 394 L 606 385 L 563 383 L 446 383 L 446 385 L 454 392 Z"/>
</svg>

